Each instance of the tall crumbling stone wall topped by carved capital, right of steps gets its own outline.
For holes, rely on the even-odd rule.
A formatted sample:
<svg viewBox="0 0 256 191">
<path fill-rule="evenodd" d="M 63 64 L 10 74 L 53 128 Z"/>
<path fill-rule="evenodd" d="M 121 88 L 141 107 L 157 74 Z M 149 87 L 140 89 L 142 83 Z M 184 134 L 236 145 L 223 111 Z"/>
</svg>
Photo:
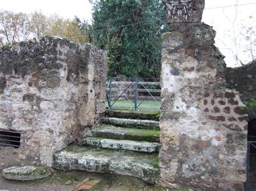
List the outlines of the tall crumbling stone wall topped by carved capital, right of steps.
<svg viewBox="0 0 256 191">
<path fill-rule="evenodd" d="M 188 3 L 193 11 L 204 8 L 201 0 Z M 170 32 L 162 36 L 159 183 L 242 190 L 247 110 L 238 92 L 226 89 L 225 63 L 214 46 L 215 31 L 194 15 L 196 20 L 188 22 L 172 17 Z"/>
</svg>

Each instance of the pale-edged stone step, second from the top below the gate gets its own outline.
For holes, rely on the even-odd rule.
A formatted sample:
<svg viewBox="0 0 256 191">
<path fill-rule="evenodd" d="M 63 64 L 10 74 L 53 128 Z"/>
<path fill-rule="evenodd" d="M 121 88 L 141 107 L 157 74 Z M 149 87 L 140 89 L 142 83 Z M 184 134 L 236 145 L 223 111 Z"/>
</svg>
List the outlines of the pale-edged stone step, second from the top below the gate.
<svg viewBox="0 0 256 191">
<path fill-rule="evenodd" d="M 112 124 L 129 128 L 159 129 L 159 122 L 152 120 L 103 117 L 102 122 L 105 124 Z"/>
</svg>

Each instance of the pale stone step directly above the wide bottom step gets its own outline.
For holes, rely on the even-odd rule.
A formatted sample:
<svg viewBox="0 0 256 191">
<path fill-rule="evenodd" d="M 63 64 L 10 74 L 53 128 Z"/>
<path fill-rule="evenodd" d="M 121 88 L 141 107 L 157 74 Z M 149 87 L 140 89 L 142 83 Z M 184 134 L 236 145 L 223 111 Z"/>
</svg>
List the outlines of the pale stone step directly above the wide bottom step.
<svg viewBox="0 0 256 191">
<path fill-rule="evenodd" d="M 160 147 L 160 143 L 138 142 L 134 140 L 105 139 L 99 137 L 88 137 L 82 139 L 79 141 L 79 144 L 115 150 L 127 150 L 147 153 L 158 152 Z"/>
</svg>

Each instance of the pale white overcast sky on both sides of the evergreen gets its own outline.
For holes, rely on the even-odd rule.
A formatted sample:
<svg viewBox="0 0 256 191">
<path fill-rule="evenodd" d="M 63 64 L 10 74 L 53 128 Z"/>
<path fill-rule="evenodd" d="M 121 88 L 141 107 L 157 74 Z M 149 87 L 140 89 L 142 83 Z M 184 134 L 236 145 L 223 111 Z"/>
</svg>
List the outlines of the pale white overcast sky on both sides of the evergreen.
<svg viewBox="0 0 256 191">
<path fill-rule="evenodd" d="M 227 66 L 235 67 L 237 65 L 235 65 L 236 62 L 232 56 L 232 54 L 236 52 L 233 39 L 233 26 L 235 29 L 235 36 L 237 36 L 237 33 L 240 33 L 243 25 L 255 26 L 256 23 L 253 18 L 250 19 L 250 16 L 255 15 L 256 0 L 238 0 L 238 4 L 255 4 L 238 6 L 237 9 L 234 6 L 231 8 L 217 8 L 221 6 L 235 5 L 237 0 L 205 0 L 205 2 L 206 6 L 203 22 L 213 26 L 214 30 L 217 31 L 217 37 L 215 38 L 216 45 L 220 48 L 221 53 L 226 56 L 225 61 Z M 26 13 L 41 10 L 46 15 L 57 13 L 64 18 L 73 18 L 76 15 L 79 18 L 90 22 L 92 5 L 88 0 L 44 0 L 40 2 L 35 0 L 8 0 L 1 1 L 0 9 Z M 236 12 L 237 19 L 234 22 Z M 242 32 L 245 32 L 245 30 Z M 241 47 L 246 45 L 246 41 L 242 36 L 237 38 L 237 41 L 237 44 Z M 251 58 L 242 51 L 241 47 L 237 48 L 237 53 L 241 60 L 244 63 L 247 63 Z"/>
</svg>

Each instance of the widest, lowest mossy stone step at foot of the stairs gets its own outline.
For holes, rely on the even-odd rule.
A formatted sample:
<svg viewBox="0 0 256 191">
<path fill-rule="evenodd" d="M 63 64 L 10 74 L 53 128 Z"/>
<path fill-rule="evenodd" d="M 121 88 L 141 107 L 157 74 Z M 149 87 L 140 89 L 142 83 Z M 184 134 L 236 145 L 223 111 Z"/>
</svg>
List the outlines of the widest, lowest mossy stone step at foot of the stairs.
<svg viewBox="0 0 256 191">
<path fill-rule="evenodd" d="M 68 147 L 55 154 L 54 167 L 64 171 L 116 173 L 135 176 L 154 183 L 158 179 L 158 155 Z"/>
</svg>

